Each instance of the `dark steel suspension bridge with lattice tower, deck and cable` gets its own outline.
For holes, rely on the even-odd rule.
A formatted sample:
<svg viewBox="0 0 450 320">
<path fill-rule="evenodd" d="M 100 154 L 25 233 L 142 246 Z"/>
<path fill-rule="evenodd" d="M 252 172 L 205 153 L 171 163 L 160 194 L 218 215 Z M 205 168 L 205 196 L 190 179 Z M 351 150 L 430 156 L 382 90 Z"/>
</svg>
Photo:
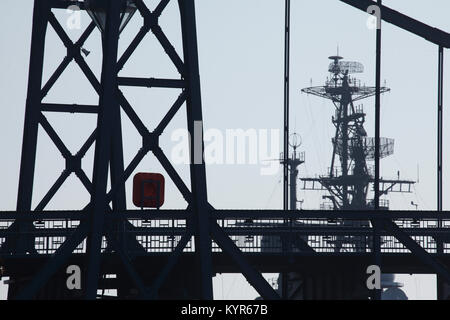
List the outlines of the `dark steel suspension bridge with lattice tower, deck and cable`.
<svg viewBox="0 0 450 320">
<path fill-rule="evenodd" d="M 159 18 L 169 2 L 176 2 L 179 7 L 180 55 L 159 25 Z M 369 0 L 341 2 L 364 12 L 374 4 Z M 450 35 L 382 6 L 381 1 L 378 4 L 383 21 L 439 47 L 437 174 L 440 180 L 437 184 L 437 211 L 387 211 L 377 208 L 377 201 L 376 212 L 371 208 L 336 211 L 214 209 L 208 202 L 205 165 L 202 160 L 194 161 L 195 148 L 199 146 L 191 144 L 188 186 L 165 156 L 158 139 L 175 114 L 182 110 L 186 112 L 186 126 L 191 136 L 199 126 L 201 129 L 194 0 L 161 0 L 153 10 L 143 0 L 35 0 L 17 208 L 15 211 L 0 212 L 0 271 L 10 277 L 8 297 L 94 299 L 99 289 L 116 289 L 118 298 L 122 299 L 212 299 L 213 275 L 239 272 L 263 298 L 278 299 L 279 294 L 261 273 L 303 270 L 317 279 L 310 285 L 316 287 L 314 297 L 320 299 L 326 298 L 327 292 L 342 291 L 339 289 L 341 284 L 323 290 L 323 286 L 319 285 L 321 279 L 333 277 L 333 272 L 341 273 L 342 270 L 364 274 L 367 266 L 374 263 L 379 264 L 384 273 L 436 273 L 440 283 L 450 283 L 450 213 L 442 211 L 443 49 L 450 47 Z M 55 11 L 65 10 L 71 5 L 88 10 L 93 18 L 75 42 L 68 37 L 54 15 Z M 133 12 L 142 17 L 142 26 L 119 56 L 119 34 L 126 28 Z M 59 65 L 54 66 L 54 73 L 44 81 L 46 31 L 49 27 L 55 30 L 67 48 L 67 55 Z M 100 79 L 96 78 L 82 55 L 83 44 L 98 29 L 102 34 L 103 48 Z M 177 77 L 129 77 L 121 73 L 141 41 L 150 33 L 172 61 L 178 72 Z M 381 29 L 377 31 L 377 39 L 380 37 Z M 378 71 L 380 43 L 377 41 Z M 148 54 L 151 55 L 151 52 Z M 80 67 L 98 94 L 98 104 L 43 102 L 71 63 Z M 379 98 L 379 72 L 376 78 L 375 96 Z M 167 113 L 156 127 L 150 130 L 123 95 L 123 87 L 167 88 L 177 92 L 178 97 L 167 106 Z M 376 105 L 376 110 L 379 111 L 379 105 Z M 50 112 L 94 114 L 97 124 L 81 148 L 71 152 L 47 119 Z M 130 119 L 142 138 L 141 147 L 129 163 L 124 161 L 121 114 Z M 379 129 L 379 125 L 376 122 L 376 128 Z M 33 208 L 38 128 L 42 128 L 53 141 L 66 166 Z M 95 148 L 94 169 L 92 177 L 88 177 L 82 160 L 85 160 L 85 154 L 91 147 Z M 374 148 L 376 155 L 379 151 L 376 142 Z M 174 182 L 188 203 L 185 209 L 131 210 L 127 207 L 125 182 L 147 154 L 161 163 L 165 175 Z M 379 160 L 377 158 L 375 162 Z M 89 202 L 73 210 L 46 210 L 49 201 L 72 173 L 88 190 Z M 374 183 L 379 180 L 378 175 L 375 172 Z M 330 224 L 330 219 L 342 219 L 346 223 Z M 364 224 L 367 221 L 370 224 Z M 414 221 L 418 224 L 412 224 Z M 263 248 L 261 239 L 267 236 L 280 237 L 283 241 L 275 241 L 272 247 Z M 372 238 L 373 241 L 367 244 L 364 252 L 350 250 L 343 254 L 335 252 L 334 246 L 326 241 L 330 236 L 359 236 Z M 240 241 L 243 238 L 251 241 Z M 69 290 L 66 286 L 66 270 L 70 265 L 81 268 L 82 286 L 79 290 Z M 333 270 L 329 269 L 331 265 Z M 444 290 L 441 290 L 440 297 L 445 297 Z"/>
</svg>

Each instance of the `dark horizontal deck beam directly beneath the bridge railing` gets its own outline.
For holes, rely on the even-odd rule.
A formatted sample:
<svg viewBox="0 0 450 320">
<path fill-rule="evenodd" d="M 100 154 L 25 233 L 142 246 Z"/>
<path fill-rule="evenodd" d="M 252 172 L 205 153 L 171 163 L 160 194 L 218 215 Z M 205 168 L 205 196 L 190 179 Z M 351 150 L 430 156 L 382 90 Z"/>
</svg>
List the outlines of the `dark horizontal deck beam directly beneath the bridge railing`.
<svg viewBox="0 0 450 320">
<path fill-rule="evenodd" d="M 276 253 L 246 253 L 248 262 L 263 273 L 279 272 L 338 272 L 339 270 L 357 270 L 364 272 L 367 266 L 373 264 L 371 254 L 300 254 L 291 256 Z M 450 268 L 450 255 L 433 255 L 445 266 Z M 155 274 L 167 263 L 169 253 L 154 253 L 136 257 L 133 264 L 137 271 L 145 274 Z M 10 257 L 4 259 L 5 276 L 32 275 L 50 259 L 49 255 L 35 257 Z M 224 253 L 214 253 L 213 271 L 215 273 L 240 273 L 240 269 L 233 260 Z M 104 255 L 102 259 L 105 273 L 115 274 L 122 269 L 120 258 L 116 255 Z M 74 254 L 67 262 L 82 267 L 85 263 L 84 254 Z M 193 253 L 183 254 L 177 263 L 177 269 L 187 270 L 195 266 Z M 433 269 L 421 262 L 413 254 L 383 254 L 382 272 L 384 273 L 435 273 Z"/>
</svg>

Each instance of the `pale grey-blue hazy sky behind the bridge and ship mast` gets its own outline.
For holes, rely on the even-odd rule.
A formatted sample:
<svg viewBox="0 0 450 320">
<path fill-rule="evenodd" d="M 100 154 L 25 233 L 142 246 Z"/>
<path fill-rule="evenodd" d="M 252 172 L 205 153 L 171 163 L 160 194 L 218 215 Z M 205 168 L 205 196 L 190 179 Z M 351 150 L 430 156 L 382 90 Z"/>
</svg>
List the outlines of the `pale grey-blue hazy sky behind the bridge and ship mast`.
<svg viewBox="0 0 450 320">
<path fill-rule="evenodd" d="M 156 3 L 156 1 L 150 1 Z M 434 0 L 385 0 L 384 3 L 419 20 L 444 30 L 450 30 L 447 10 L 450 3 Z M 27 90 L 33 1 L 3 0 L 7 14 L 0 20 L 0 210 L 13 210 L 17 198 L 18 172 Z M 283 109 L 283 24 L 284 1 L 281 0 L 198 0 L 197 28 L 200 54 L 205 129 L 281 129 Z M 65 25 L 68 13 L 61 10 L 57 17 Z M 136 15 L 121 36 L 123 51 L 137 33 L 141 18 Z M 303 137 L 302 149 L 306 163 L 300 175 L 325 172 L 331 156 L 333 126 L 332 105 L 325 100 L 300 94 L 300 89 L 322 85 L 327 74 L 327 57 L 335 54 L 365 65 L 362 82 L 374 83 L 375 33 L 366 27 L 367 15 L 337 0 L 292 0 L 291 51 L 291 128 Z M 90 22 L 82 16 L 82 29 Z M 181 54 L 178 8 L 172 1 L 161 17 L 163 30 Z M 417 178 L 420 183 L 410 195 L 393 195 L 392 209 L 411 209 L 410 202 L 420 209 L 436 208 L 436 93 L 437 47 L 425 40 L 384 24 L 383 79 L 392 92 L 382 99 L 382 135 L 395 138 L 395 154 L 382 162 L 382 176 Z M 81 31 L 70 30 L 72 39 Z M 65 56 L 65 49 L 51 27 L 48 29 L 44 79 L 48 79 Z M 99 32 L 85 44 L 91 51 L 86 58 L 99 78 L 101 46 Z M 149 35 L 132 57 L 121 75 L 142 77 L 174 77 L 176 70 L 164 56 L 155 39 Z M 446 59 L 447 61 L 448 59 Z M 445 63 L 445 75 L 449 63 Z M 446 79 L 448 77 L 446 76 Z M 153 128 L 176 98 L 178 92 L 124 88 L 123 92 L 136 112 Z M 449 104 L 449 95 L 444 104 Z M 47 102 L 97 103 L 97 97 L 76 64 L 72 64 L 45 98 Z M 373 135 L 373 100 L 365 103 L 367 129 Z M 445 110 L 445 107 L 444 107 Z M 444 111 L 444 123 L 449 112 Z M 72 152 L 76 152 L 95 126 L 92 115 L 48 115 L 49 121 Z M 128 163 L 140 147 L 141 140 L 126 116 L 124 123 L 125 161 Z M 181 110 L 161 139 L 170 156 L 174 145 L 171 132 L 184 128 L 185 112 Z M 449 139 L 444 129 L 444 142 Z M 449 156 L 449 149 L 445 149 Z M 88 176 L 92 175 L 93 149 L 83 161 Z M 53 184 L 64 168 L 63 158 L 45 133 L 40 130 L 36 163 L 34 205 Z M 189 184 L 187 166 L 177 170 Z M 163 172 L 148 155 L 137 171 Z M 136 172 L 137 172 L 136 171 Z M 444 194 L 448 191 L 450 168 L 444 161 Z M 281 208 L 281 172 L 261 176 L 255 165 L 210 165 L 207 167 L 208 196 L 217 208 Z M 167 179 L 165 208 L 183 208 L 184 200 Z M 131 203 L 130 183 L 127 184 L 128 204 Z M 320 194 L 299 192 L 304 208 L 317 208 Z M 71 176 L 57 193 L 48 209 L 78 209 L 89 200 L 81 183 Z M 444 198 L 444 209 L 450 198 Z M 240 278 L 225 277 L 225 298 L 252 297 Z M 433 298 L 433 284 L 423 281 L 421 298 Z M 238 283 L 238 284 L 236 284 Z M 242 284 L 242 287 L 239 287 Z M 230 287 L 231 286 L 231 287 Z M 234 286 L 234 287 L 233 287 Z M 245 288 L 244 288 L 245 287 Z M 231 288 L 231 289 L 230 289 Z M 408 288 L 407 288 L 408 290 Z M 413 289 L 410 289 L 413 290 Z M 215 279 L 215 294 L 221 297 L 222 279 Z M 411 291 L 412 292 L 412 291 Z"/>
</svg>

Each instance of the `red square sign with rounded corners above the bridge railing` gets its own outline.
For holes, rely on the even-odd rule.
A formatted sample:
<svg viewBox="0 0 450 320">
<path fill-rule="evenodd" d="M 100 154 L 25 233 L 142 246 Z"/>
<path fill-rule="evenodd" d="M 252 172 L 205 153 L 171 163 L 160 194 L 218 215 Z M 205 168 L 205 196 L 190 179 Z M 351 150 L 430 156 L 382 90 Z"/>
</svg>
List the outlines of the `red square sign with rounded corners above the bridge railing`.
<svg viewBox="0 0 450 320">
<path fill-rule="evenodd" d="M 137 173 L 133 178 L 133 203 L 139 208 L 160 208 L 164 204 L 164 176 Z"/>
</svg>

